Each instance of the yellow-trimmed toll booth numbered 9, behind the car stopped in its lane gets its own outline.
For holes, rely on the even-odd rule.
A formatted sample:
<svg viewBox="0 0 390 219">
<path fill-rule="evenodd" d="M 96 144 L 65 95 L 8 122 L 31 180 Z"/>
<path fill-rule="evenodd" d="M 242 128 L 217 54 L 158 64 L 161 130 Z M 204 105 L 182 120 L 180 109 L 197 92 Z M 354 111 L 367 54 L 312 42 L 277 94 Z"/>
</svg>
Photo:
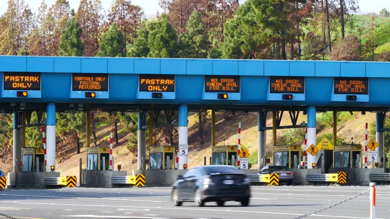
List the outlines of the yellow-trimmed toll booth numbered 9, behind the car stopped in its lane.
<svg viewBox="0 0 390 219">
<path fill-rule="evenodd" d="M 296 155 L 296 163 L 294 163 L 294 155 Z M 274 146 L 274 165 L 285 166 L 290 169 L 301 168 L 301 145 Z"/>
</svg>

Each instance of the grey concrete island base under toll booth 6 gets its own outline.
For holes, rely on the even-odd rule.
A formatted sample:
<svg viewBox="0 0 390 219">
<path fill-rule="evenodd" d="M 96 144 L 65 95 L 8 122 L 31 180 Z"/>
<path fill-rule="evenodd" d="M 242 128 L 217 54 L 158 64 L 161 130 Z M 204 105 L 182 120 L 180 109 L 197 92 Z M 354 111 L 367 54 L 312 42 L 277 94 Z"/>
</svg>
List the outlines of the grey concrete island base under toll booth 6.
<svg viewBox="0 0 390 219">
<path fill-rule="evenodd" d="M 125 176 L 127 171 L 83 171 L 83 187 L 112 188 L 111 176 Z"/>
</svg>

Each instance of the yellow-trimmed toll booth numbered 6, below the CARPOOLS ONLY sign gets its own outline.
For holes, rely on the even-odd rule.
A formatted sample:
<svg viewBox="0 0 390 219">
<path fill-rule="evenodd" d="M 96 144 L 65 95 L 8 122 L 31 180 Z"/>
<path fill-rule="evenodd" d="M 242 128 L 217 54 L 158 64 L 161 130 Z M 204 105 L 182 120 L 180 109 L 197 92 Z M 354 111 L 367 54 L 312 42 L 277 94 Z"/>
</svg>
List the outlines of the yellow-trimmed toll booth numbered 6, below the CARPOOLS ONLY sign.
<svg viewBox="0 0 390 219">
<path fill-rule="evenodd" d="M 109 167 L 110 167 L 110 147 L 87 148 L 87 171 L 88 170 L 107 171 L 110 170 Z"/>
</svg>

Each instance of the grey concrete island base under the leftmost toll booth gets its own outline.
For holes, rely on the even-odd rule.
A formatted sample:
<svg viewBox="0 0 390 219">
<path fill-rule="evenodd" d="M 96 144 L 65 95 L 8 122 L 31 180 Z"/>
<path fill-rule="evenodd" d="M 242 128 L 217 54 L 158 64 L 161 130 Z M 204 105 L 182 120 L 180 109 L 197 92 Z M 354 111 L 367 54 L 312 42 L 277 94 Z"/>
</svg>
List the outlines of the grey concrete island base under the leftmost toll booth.
<svg viewBox="0 0 390 219">
<path fill-rule="evenodd" d="M 59 177 L 59 172 L 16 172 L 8 173 L 7 186 L 16 188 L 45 188 L 45 177 Z"/>
</svg>

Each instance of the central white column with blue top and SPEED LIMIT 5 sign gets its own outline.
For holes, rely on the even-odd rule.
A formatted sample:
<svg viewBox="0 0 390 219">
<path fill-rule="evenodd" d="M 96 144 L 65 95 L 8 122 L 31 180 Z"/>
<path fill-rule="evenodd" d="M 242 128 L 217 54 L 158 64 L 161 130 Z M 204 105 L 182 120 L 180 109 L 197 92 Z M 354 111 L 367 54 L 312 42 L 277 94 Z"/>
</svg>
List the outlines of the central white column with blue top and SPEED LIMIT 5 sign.
<svg viewBox="0 0 390 219">
<path fill-rule="evenodd" d="M 179 106 L 179 167 L 184 169 L 183 165 L 188 167 L 188 107 L 186 104 Z"/>
</svg>

